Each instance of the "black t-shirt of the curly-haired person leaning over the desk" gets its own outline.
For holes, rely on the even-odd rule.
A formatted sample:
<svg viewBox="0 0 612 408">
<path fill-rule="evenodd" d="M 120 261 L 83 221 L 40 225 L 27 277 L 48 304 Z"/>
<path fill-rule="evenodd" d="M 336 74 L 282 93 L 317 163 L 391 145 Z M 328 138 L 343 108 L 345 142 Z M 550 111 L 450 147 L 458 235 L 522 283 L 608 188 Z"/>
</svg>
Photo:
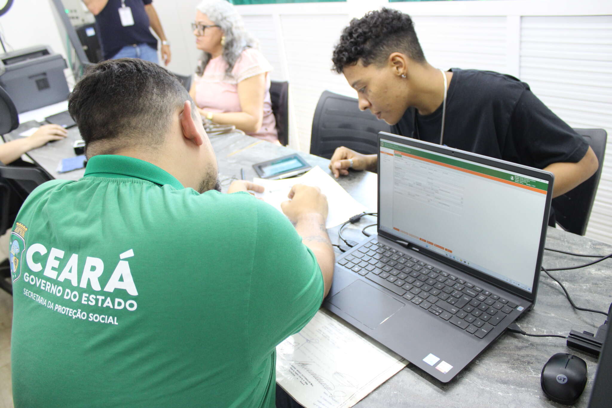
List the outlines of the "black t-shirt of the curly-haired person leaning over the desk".
<svg viewBox="0 0 612 408">
<path fill-rule="evenodd" d="M 443 144 L 540 169 L 559 161 L 576 163 L 586 154 L 589 145 L 582 136 L 528 84 L 497 72 L 451 71 Z M 428 115 L 409 108 L 392 132 L 439 144 L 441 125 L 442 105 Z"/>
</svg>

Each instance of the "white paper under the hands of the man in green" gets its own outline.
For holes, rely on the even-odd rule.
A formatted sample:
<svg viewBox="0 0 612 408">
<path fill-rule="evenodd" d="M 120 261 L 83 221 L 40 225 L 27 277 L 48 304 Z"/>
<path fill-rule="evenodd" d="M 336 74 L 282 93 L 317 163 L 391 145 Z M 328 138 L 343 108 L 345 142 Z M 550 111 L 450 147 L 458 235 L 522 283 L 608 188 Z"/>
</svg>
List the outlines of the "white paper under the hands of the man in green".
<svg viewBox="0 0 612 408">
<path fill-rule="evenodd" d="M 280 212 L 280 203 L 287 201 L 287 195 L 294 184 L 304 184 L 319 187 L 321 193 L 327 196 L 329 211 L 327 213 L 326 228 L 333 228 L 353 215 L 365 211 L 365 206 L 356 201 L 338 182 L 327 174 L 319 166 L 306 172 L 304 176 L 293 177 L 293 179 L 267 180 L 255 177 L 253 183 L 263 185 L 266 189 L 263 193 L 256 193 L 255 196 L 263 199 L 268 204 L 276 207 Z"/>
</svg>

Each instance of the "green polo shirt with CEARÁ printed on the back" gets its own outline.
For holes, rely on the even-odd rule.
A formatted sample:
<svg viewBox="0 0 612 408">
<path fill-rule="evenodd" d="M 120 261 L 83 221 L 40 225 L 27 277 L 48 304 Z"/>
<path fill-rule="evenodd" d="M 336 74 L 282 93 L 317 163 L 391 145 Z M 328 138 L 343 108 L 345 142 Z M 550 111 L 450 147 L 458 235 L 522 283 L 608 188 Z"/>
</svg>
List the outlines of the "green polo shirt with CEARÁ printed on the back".
<svg viewBox="0 0 612 408">
<path fill-rule="evenodd" d="M 272 206 L 131 157 L 38 187 L 9 245 L 15 407 L 274 407 L 275 346 L 323 300 Z"/>
</svg>

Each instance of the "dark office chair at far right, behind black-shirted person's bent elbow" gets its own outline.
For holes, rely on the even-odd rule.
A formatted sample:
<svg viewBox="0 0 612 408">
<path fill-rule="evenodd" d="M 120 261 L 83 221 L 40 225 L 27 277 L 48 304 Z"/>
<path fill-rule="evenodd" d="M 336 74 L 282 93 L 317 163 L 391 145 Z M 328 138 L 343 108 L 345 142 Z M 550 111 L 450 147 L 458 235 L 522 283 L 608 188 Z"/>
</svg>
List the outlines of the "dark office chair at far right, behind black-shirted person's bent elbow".
<svg viewBox="0 0 612 408">
<path fill-rule="evenodd" d="M 583 136 L 595 152 L 599 160 L 599 168 L 588 180 L 578 185 L 562 196 L 553 198 L 551 206 L 554 208 L 556 221 L 565 231 L 584 235 L 586 226 L 591 217 L 591 209 L 595 201 L 595 193 L 602 175 L 603 157 L 606 151 L 608 134 L 603 129 L 574 129 L 578 135 Z M 553 225 L 554 226 L 554 225 Z"/>
</svg>

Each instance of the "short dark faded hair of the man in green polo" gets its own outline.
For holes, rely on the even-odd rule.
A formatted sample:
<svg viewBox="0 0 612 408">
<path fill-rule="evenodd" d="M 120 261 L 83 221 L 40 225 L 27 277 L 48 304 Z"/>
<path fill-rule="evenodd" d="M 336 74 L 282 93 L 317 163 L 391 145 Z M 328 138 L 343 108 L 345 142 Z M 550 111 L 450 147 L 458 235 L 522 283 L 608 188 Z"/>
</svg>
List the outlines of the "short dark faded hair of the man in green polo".
<svg viewBox="0 0 612 408">
<path fill-rule="evenodd" d="M 168 70 L 121 58 L 90 67 L 70 94 L 68 110 L 86 150 L 103 141 L 95 154 L 112 154 L 135 144 L 159 146 L 185 100 L 191 100 L 187 90 Z"/>
</svg>

